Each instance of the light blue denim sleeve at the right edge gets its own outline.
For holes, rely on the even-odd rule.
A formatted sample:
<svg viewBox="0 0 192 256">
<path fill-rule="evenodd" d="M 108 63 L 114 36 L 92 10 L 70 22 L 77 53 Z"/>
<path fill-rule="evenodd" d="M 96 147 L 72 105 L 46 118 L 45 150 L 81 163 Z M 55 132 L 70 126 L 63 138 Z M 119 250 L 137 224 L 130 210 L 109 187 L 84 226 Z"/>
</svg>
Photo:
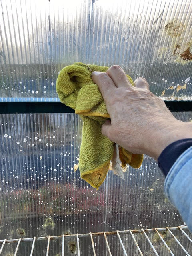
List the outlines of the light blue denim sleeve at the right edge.
<svg viewBox="0 0 192 256">
<path fill-rule="evenodd" d="M 170 168 L 164 183 L 164 192 L 192 232 L 192 146 Z"/>
</svg>

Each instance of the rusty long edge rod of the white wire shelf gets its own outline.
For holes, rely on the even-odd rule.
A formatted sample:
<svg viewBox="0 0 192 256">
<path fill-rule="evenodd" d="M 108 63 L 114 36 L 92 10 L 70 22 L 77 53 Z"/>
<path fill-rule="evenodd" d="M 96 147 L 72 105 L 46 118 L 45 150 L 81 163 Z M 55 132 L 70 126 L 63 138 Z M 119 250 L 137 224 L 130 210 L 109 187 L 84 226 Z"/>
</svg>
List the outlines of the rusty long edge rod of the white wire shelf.
<svg viewBox="0 0 192 256">
<path fill-rule="evenodd" d="M 188 227 L 180 227 L 183 230 L 188 230 Z M 171 227 L 169 228 L 170 230 L 180 230 L 179 227 Z M 167 228 L 156 228 L 156 230 L 158 231 L 167 231 Z M 132 233 L 142 233 L 143 230 L 142 229 L 136 229 L 136 230 L 131 230 Z M 149 228 L 149 229 L 145 229 L 145 232 L 155 232 L 154 228 Z M 122 230 L 122 231 L 118 231 L 119 234 L 129 234 L 130 230 Z M 115 235 L 117 234 L 116 231 L 110 231 L 110 232 L 105 232 L 106 236 L 110 236 L 110 235 Z M 90 233 L 86 233 L 86 234 L 78 234 L 78 237 L 86 237 L 86 236 L 90 236 Z M 103 232 L 97 232 L 97 233 L 92 233 L 92 236 L 103 236 Z M 48 240 L 48 238 L 50 237 L 50 240 L 56 240 L 56 239 L 61 239 L 62 235 L 59 236 L 42 236 L 42 237 L 36 237 L 36 241 L 39 240 Z M 76 235 L 64 235 L 65 238 L 76 238 Z M 34 238 L 21 238 L 21 242 L 32 242 Z M 6 243 L 14 243 L 14 242 L 18 242 L 19 239 L 6 239 Z M 0 244 L 2 244 L 4 242 L 4 240 L 0 240 Z"/>
</svg>

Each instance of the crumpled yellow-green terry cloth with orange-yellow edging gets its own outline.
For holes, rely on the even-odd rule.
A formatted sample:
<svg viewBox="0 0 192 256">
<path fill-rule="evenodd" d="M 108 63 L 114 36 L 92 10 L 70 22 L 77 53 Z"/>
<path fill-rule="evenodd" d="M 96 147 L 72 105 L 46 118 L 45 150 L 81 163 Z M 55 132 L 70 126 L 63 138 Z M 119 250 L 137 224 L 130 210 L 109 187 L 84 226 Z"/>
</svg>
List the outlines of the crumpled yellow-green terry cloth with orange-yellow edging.
<svg viewBox="0 0 192 256">
<path fill-rule="evenodd" d="M 93 71 L 106 72 L 108 67 L 86 65 L 80 62 L 63 68 L 57 78 L 56 91 L 60 101 L 79 114 L 83 123 L 79 157 L 81 178 L 94 188 L 104 182 L 114 154 L 115 143 L 101 133 L 102 124 L 110 118 L 102 94 L 91 78 Z M 128 76 L 131 84 L 133 80 Z M 119 147 L 122 167 L 129 164 L 139 168 L 142 154 L 132 154 Z"/>
</svg>

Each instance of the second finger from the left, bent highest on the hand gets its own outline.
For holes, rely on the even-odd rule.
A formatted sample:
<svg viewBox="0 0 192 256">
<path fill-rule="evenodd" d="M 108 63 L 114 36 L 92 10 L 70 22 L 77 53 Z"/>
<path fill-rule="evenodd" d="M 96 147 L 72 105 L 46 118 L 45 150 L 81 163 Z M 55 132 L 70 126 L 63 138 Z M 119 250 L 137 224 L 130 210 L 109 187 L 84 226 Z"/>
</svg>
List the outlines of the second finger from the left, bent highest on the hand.
<svg viewBox="0 0 192 256">
<path fill-rule="evenodd" d="M 106 73 L 113 80 L 116 87 L 129 87 L 132 84 L 129 82 L 128 77 L 122 68 L 118 65 L 111 66 Z"/>
</svg>

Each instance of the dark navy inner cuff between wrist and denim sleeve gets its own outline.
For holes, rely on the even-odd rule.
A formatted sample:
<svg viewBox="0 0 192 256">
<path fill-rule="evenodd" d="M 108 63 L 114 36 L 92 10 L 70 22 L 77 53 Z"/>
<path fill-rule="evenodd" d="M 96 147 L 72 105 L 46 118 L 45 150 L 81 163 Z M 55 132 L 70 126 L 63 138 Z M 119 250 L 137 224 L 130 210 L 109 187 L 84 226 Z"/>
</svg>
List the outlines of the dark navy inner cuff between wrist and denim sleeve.
<svg viewBox="0 0 192 256">
<path fill-rule="evenodd" d="M 158 157 L 158 166 L 165 176 L 173 166 L 177 158 L 188 148 L 192 146 L 192 138 L 177 140 L 168 145 Z"/>
</svg>

